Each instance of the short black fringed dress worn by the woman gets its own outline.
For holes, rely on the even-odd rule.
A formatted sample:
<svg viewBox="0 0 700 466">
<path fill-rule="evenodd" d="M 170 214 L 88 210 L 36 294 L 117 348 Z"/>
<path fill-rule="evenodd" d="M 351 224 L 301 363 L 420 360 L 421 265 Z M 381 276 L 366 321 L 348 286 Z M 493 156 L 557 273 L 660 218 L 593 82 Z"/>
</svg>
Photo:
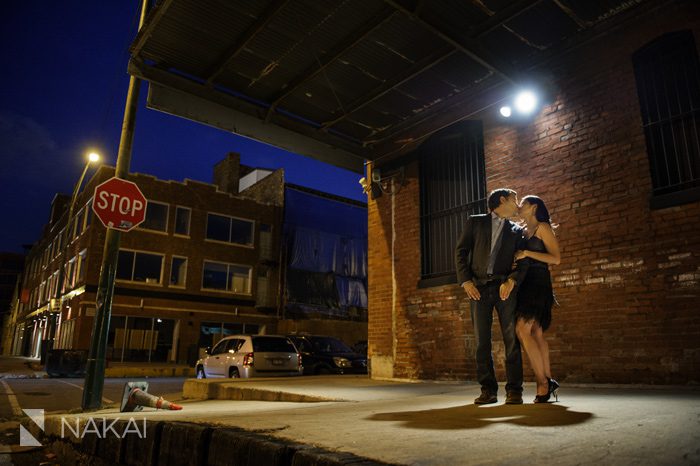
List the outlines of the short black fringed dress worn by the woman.
<svg viewBox="0 0 700 466">
<path fill-rule="evenodd" d="M 544 242 L 534 235 L 526 241 L 525 249 L 534 252 L 547 252 Z M 531 257 L 522 260 L 529 261 L 530 266 L 523 282 L 518 287 L 515 317 L 526 321 L 534 319 L 542 327 L 542 330 L 547 330 L 552 322 L 552 305 L 554 304 L 549 266 Z"/>
</svg>

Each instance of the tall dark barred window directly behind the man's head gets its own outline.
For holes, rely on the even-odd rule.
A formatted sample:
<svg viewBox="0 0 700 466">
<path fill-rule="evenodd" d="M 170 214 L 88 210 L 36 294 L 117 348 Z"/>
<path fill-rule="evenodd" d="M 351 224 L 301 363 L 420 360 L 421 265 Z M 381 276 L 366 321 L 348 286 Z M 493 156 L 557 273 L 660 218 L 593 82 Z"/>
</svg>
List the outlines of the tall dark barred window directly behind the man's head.
<svg viewBox="0 0 700 466">
<path fill-rule="evenodd" d="M 481 122 L 452 125 L 418 151 L 421 275 L 424 279 L 451 277 L 455 247 L 467 219 L 486 211 Z"/>
</svg>

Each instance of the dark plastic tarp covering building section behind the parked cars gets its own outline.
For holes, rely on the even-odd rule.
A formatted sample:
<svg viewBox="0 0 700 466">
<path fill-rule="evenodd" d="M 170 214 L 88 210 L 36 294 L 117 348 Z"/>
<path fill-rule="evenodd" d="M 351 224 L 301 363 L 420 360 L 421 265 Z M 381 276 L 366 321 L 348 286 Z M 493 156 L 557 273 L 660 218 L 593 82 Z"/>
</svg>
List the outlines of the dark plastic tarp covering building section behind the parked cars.
<svg viewBox="0 0 700 466">
<path fill-rule="evenodd" d="M 367 208 L 285 190 L 287 302 L 342 315 L 367 307 Z"/>
</svg>

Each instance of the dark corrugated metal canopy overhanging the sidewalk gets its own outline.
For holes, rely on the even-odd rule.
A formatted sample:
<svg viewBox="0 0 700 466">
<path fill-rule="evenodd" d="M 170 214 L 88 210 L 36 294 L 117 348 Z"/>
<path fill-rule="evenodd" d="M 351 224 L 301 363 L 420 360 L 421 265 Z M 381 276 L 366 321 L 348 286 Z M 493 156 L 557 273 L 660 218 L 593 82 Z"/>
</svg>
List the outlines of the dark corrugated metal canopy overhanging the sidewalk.
<svg viewBox="0 0 700 466">
<path fill-rule="evenodd" d="M 149 106 L 362 172 L 660 0 L 162 0 Z"/>
</svg>

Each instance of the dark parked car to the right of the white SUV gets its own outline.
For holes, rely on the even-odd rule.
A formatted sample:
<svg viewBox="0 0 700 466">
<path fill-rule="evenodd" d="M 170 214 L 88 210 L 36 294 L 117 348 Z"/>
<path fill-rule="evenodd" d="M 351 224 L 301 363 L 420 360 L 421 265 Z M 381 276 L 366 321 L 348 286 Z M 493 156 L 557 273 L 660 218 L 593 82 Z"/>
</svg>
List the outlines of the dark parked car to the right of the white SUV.
<svg viewBox="0 0 700 466">
<path fill-rule="evenodd" d="M 305 375 L 366 374 L 367 356 L 335 337 L 287 335 L 301 352 Z"/>
</svg>

